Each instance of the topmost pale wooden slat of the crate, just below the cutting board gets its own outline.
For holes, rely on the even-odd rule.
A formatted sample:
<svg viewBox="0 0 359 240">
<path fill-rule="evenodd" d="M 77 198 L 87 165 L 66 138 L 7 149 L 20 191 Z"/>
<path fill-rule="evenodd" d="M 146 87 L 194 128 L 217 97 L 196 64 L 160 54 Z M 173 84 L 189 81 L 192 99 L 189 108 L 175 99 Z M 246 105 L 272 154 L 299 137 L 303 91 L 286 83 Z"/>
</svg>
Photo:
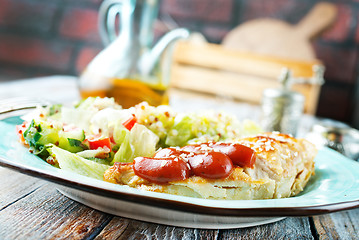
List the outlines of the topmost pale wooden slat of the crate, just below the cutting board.
<svg viewBox="0 0 359 240">
<path fill-rule="evenodd" d="M 321 64 L 319 60 L 293 61 L 233 51 L 216 44 L 186 41 L 176 44 L 174 62 L 274 79 L 278 78 L 283 67 L 291 69 L 294 77 L 311 77 L 313 66 Z"/>
</svg>

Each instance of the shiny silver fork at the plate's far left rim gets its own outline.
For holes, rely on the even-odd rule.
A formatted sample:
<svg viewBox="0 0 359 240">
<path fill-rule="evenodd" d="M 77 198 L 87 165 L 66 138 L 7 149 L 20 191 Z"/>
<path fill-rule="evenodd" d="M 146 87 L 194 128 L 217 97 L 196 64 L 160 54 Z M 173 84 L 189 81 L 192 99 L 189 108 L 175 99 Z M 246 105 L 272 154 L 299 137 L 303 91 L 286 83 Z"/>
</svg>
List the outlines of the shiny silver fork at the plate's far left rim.
<svg viewBox="0 0 359 240">
<path fill-rule="evenodd" d="M 0 114 L 10 113 L 18 110 L 47 106 L 50 102 L 41 98 L 15 97 L 0 100 Z"/>
</svg>

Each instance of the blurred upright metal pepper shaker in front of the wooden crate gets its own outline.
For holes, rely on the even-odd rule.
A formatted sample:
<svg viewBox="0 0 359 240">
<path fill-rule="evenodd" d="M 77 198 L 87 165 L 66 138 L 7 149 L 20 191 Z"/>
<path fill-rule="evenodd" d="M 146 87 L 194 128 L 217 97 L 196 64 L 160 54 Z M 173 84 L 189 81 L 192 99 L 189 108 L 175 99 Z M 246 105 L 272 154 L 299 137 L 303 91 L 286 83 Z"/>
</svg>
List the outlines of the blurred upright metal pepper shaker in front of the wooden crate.
<svg viewBox="0 0 359 240">
<path fill-rule="evenodd" d="M 297 133 L 303 113 L 304 96 L 290 90 L 292 76 L 289 69 L 283 69 L 279 81 L 281 88 L 268 88 L 262 96 L 262 127 L 265 131 Z"/>
</svg>

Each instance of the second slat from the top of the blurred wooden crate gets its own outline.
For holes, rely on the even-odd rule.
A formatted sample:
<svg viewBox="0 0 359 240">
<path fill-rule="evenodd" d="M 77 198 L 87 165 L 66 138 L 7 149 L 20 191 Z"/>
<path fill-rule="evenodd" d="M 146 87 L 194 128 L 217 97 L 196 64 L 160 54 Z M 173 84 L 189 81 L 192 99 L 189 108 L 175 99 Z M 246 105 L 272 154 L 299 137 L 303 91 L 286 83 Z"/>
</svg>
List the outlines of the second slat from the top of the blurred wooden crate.
<svg viewBox="0 0 359 240">
<path fill-rule="evenodd" d="M 261 102 L 264 89 L 280 87 L 279 82 L 271 78 L 181 64 L 173 66 L 171 84 L 178 89 L 226 95 L 256 104 Z M 293 90 L 305 96 L 304 111 L 314 115 L 320 85 L 294 84 Z"/>
</svg>

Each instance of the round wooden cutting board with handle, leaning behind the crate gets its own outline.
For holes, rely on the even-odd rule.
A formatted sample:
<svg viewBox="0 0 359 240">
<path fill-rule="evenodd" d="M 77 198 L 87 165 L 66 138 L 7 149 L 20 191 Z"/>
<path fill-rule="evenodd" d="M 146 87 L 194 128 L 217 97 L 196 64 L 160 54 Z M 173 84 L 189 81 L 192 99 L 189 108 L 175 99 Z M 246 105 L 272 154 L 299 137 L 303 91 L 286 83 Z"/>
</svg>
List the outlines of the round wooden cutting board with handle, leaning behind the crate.
<svg viewBox="0 0 359 240">
<path fill-rule="evenodd" d="M 315 59 L 311 40 L 331 26 L 336 13 L 334 4 L 321 2 L 295 25 L 271 18 L 251 20 L 229 32 L 222 45 L 245 52 L 311 61 Z"/>
</svg>

